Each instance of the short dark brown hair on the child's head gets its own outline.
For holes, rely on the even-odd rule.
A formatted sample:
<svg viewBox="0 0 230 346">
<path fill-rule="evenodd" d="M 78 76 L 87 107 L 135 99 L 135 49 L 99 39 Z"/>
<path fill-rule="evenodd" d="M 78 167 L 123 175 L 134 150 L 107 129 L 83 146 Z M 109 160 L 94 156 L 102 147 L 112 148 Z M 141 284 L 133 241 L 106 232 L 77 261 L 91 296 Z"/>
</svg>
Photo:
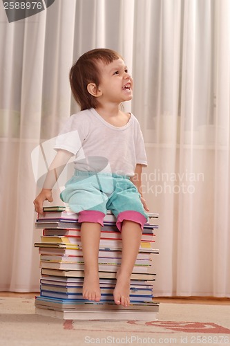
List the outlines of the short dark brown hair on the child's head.
<svg viewBox="0 0 230 346">
<path fill-rule="evenodd" d="M 87 90 L 89 83 L 99 86 L 98 61 L 110 64 L 113 60 L 122 58 L 117 52 L 106 48 L 97 48 L 84 53 L 70 69 L 70 86 L 73 97 L 81 107 L 81 110 L 96 108 L 97 98 Z"/>
</svg>

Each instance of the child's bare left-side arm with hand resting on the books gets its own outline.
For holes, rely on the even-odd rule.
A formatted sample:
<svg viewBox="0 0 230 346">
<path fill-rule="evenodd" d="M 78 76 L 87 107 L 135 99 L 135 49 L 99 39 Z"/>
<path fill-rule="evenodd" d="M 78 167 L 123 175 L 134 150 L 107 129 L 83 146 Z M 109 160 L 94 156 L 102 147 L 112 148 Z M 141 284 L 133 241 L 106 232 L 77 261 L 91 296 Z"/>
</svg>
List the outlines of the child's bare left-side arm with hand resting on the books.
<svg viewBox="0 0 230 346">
<path fill-rule="evenodd" d="M 35 205 L 35 211 L 39 212 L 39 214 L 43 213 L 44 201 L 52 202 L 52 188 L 59 178 L 59 175 L 64 170 L 64 167 L 66 167 L 66 163 L 68 163 L 71 156 L 73 156 L 72 153 L 59 149 L 55 158 L 50 164 L 43 188 L 33 202 Z"/>
</svg>

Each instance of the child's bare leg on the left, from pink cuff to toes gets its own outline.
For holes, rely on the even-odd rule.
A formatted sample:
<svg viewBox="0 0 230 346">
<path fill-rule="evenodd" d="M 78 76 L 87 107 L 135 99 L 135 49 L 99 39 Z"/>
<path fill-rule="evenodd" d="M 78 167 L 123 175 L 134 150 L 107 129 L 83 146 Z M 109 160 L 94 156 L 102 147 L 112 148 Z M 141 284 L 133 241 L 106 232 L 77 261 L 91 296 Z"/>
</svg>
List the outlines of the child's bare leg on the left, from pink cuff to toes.
<svg viewBox="0 0 230 346">
<path fill-rule="evenodd" d="M 94 222 L 82 222 L 81 241 L 84 257 L 84 299 L 99 302 L 101 292 L 98 275 L 98 251 L 101 225 Z"/>
</svg>

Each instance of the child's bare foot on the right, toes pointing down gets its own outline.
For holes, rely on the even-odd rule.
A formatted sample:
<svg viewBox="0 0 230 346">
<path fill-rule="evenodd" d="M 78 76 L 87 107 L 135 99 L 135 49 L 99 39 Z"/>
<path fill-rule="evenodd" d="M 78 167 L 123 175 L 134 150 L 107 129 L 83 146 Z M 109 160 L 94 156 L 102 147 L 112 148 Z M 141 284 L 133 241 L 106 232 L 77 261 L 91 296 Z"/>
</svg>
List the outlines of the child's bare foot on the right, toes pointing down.
<svg viewBox="0 0 230 346">
<path fill-rule="evenodd" d="M 117 283 L 113 291 L 115 304 L 121 304 L 123 307 L 129 306 L 130 280 L 130 276 L 126 273 L 122 274 L 119 271 L 117 272 Z"/>
</svg>

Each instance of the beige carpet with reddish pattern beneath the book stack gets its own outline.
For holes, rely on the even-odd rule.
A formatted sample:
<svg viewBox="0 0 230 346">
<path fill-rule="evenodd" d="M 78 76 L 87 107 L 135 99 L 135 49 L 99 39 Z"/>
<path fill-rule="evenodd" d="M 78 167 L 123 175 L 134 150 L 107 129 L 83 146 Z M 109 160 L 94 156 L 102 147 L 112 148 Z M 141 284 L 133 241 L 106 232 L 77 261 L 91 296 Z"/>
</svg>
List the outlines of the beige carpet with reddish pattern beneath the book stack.
<svg viewBox="0 0 230 346">
<path fill-rule="evenodd" d="M 158 321 L 73 321 L 35 314 L 34 300 L 0 298 L 0 345 L 230 345 L 230 306 L 160 303 Z"/>
</svg>

